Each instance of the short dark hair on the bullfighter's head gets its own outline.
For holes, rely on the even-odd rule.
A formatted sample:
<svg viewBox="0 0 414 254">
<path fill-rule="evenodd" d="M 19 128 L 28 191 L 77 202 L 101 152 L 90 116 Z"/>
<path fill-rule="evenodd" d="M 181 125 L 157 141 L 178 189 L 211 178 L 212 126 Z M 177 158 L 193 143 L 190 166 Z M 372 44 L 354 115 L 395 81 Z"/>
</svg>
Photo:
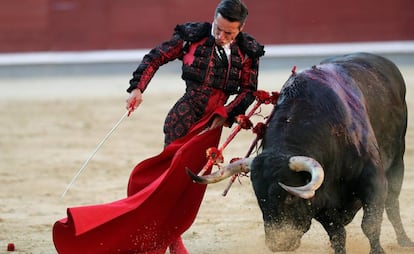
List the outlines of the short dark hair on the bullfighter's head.
<svg viewBox="0 0 414 254">
<path fill-rule="evenodd" d="M 216 8 L 215 17 L 217 17 L 219 13 L 224 19 L 230 22 L 237 21 L 243 25 L 249 11 L 247 10 L 246 5 L 240 0 L 222 0 Z"/>
</svg>

